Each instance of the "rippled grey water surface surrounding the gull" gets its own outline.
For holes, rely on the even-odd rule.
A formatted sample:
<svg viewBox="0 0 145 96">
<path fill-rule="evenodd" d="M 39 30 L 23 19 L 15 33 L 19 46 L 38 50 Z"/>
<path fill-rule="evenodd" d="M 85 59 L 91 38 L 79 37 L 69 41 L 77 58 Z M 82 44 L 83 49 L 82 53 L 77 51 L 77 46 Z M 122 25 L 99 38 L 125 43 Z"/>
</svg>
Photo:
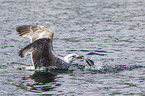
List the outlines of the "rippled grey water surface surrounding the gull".
<svg viewBox="0 0 145 96">
<path fill-rule="evenodd" d="M 0 95 L 145 95 L 144 0 L 0 0 Z M 42 25 L 54 31 L 54 50 L 85 55 L 91 70 L 75 61 L 51 73 L 17 52 L 29 44 L 15 27 Z"/>
</svg>

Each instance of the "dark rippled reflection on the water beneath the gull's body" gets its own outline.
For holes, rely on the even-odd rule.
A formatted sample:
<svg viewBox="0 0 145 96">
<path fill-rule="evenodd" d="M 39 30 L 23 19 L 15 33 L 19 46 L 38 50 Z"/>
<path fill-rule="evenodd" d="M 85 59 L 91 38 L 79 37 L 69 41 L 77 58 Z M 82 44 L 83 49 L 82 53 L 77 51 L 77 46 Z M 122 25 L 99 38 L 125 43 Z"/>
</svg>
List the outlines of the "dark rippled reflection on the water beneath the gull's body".
<svg viewBox="0 0 145 96">
<path fill-rule="evenodd" d="M 69 73 L 72 73 L 72 71 L 71 70 L 52 70 L 49 72 L 35 71 L 34 74 L 28 77 L 22 77 L 22 79 L 20 80 L 21 83 L 16 84 L 16 86 L 36 93 L 50 91 L 54 88 L 61 86 L 61 83 L 57 82 L 57 75 Z"/>
</svg>

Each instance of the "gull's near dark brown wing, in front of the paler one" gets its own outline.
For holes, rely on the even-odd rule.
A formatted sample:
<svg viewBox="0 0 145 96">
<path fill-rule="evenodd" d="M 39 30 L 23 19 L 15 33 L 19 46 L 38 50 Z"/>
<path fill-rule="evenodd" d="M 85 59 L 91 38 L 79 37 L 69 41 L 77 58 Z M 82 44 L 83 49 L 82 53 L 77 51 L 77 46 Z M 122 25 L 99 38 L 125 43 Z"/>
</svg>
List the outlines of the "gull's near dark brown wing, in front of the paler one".
<svg viewBox="0 0 145 96">
<path fill-rule="evenodd" d="M 32 60 L 35 69 L 40 69 L 42 66 L 48 67 L 53 63 L 54 58 L 49 54 L 49 46 L 51 46 L 51 40 L 48 38 L 42 38 L 30 43 L 22 50 L 19 51 L 19 56 L 24 57 L 25 55 L 32 53 Z M 49 55 L 48 55 L 49 54 Z"/>
</svg>

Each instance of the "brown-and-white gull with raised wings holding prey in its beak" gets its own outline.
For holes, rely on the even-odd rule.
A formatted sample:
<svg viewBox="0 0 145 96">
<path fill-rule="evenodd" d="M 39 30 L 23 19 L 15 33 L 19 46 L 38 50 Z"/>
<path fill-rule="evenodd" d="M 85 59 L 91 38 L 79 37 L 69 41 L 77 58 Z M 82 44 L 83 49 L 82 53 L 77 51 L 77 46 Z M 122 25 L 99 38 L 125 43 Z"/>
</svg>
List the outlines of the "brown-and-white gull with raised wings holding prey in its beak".
<svg viewBox="0 0 145 96">
<path fill-rule="evenodd" d="M 94 62 L 82 55 L 69 54 L 60 57 L 53 51 L 52 41 L 53 32 L 43 26 L 23 25 L 16 28 L 18 34 L 22 37 L 29 37 L 31 43 L 19 51 L 19 56 L 24 57 L 32 54 L 33 67 L 24 69 L 34 70 L 51 70 L 51 69 L 68 69 L 71 63 L 76 59 L 84 59 L 89 66 L 93 66 Z"/>
</svg>

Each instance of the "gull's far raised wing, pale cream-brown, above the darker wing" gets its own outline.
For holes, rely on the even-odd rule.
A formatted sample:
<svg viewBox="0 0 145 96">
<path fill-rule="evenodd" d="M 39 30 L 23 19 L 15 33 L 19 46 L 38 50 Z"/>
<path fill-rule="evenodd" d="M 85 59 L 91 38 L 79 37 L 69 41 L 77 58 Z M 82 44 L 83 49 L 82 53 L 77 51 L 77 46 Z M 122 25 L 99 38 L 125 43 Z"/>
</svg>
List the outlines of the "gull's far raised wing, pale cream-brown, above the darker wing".
<svg viewBox="0 0 145 96">
<path fill-rule="evenodd" d="M 23 25 L 16 28 L 18 34 L 22 37 L 28 37 L 32 42 L 40 38 L 49 38 L 53 39 L 53 32 L 44 27 L 38 25 Z"/>
</svg>

